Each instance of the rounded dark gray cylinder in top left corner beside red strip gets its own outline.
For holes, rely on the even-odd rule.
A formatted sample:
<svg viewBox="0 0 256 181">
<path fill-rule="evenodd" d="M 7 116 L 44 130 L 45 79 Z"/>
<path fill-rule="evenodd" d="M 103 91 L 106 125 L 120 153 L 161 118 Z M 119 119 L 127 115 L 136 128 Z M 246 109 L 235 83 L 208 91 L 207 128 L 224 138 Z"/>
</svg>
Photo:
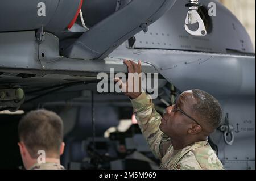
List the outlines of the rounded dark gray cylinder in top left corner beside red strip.
<svg viewBox="0 0 256 181">
<path fill-rule="evenodd" d="M 46 15 L 38 16 L 38 3 L 44 3 Z M 41 26 L 50 32 L 63 31 L 71 23 L 80 0 L 2 0 L 0 32 L 36 30 Z"/>
</svg>

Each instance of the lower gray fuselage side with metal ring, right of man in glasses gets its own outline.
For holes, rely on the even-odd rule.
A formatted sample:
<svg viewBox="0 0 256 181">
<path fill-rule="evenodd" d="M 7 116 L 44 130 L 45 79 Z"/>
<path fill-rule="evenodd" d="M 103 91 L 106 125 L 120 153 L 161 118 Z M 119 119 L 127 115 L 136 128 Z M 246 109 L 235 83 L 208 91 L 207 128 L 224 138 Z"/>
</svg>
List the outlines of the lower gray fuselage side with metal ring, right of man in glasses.
<svg viewBox="0 0 256 181">
<path fill-rule="evenodd" d="M 255 169 L 255 95 L 226 96 L 219 100 L 223 113 L 229 113 L 234 142 L 227 145 L 221 132 L 212 134 L 218 145 L 218 157 L 226 169 Z"/>
</svg>

